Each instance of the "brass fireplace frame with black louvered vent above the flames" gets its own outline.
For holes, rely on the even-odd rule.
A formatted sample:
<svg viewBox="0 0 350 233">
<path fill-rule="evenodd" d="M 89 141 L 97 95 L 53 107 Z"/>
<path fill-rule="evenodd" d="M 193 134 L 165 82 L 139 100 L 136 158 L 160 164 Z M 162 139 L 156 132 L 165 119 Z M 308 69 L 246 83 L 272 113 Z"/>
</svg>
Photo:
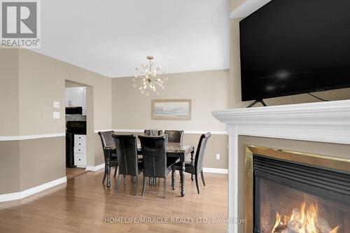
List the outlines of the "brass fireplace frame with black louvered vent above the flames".
<svg viewBox="0 0 350 233">
<path fill-rule="evenodd" d="M 336 198 L 340 202 L 350 204 L 350 160 L 260 146 L 246 146 L 245 233 L 254 232 L 255 176 L 273 181 L 278 178 L 278 183 L 282 185 L 304 190 L 311 195 Z M 306 177 L 304 181 L 307 182 L 300 182 L 300 176 Z"/>
</svg>

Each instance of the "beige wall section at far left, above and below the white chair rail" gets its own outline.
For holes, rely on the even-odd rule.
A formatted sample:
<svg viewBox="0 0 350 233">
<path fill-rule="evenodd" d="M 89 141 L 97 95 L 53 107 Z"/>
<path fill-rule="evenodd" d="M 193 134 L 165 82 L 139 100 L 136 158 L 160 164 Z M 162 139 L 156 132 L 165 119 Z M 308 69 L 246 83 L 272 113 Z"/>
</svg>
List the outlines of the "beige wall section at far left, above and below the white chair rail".
<svg viewBox="0 0 350 233">
<path fill-rule="evenodd" d="M 18 49 L 0 48 L 0 136 L 18 136 Z M 0 141 L 0 195 L 20 188 L 20 143 Z"/>
</svg>

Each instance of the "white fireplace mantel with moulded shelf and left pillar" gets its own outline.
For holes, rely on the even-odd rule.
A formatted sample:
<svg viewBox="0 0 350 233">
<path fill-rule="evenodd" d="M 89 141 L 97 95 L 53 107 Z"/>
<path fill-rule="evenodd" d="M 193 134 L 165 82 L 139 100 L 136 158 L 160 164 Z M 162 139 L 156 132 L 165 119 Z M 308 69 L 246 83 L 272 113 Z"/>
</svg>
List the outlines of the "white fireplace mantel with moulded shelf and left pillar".
<svg viewBox="0 0 350 233">
<path fill-rule="evenodd" d="M 350 144 L 350 100 L 228 109 L 213 115 L 228 124 L 228 217 L 232 219 L 238 216 L 239 136 Z M 230 224 L 229 232 L 236 233 L 237 225 Z"/>
</svg>

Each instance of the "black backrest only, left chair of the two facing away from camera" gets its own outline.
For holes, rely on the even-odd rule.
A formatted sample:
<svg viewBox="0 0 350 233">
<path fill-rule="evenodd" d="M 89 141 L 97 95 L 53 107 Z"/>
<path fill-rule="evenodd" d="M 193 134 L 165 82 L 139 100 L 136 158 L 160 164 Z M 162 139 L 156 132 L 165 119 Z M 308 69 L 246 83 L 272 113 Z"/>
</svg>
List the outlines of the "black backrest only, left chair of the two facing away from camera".
<svg viewBox="0 0 350 233">
<path fill-rule="evenodd" d="M 118 157 L 118 174 L 138 175 L 137 141 L 135 135 L 113 134 Z"/>
</svg>

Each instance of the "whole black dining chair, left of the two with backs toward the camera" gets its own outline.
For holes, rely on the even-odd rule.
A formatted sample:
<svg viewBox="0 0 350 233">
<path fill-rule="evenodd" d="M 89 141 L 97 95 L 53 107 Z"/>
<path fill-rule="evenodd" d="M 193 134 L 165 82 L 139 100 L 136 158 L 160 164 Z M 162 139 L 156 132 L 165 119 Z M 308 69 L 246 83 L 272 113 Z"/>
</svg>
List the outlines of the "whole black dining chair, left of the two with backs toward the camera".
<svg viewBox="0 0 350 233">
<path fill-rule="evenodd" d="M 139 174 L 143 169 L 142 161 L 137 155 L 137 139 L 135 135 L 113 134 L 116 143 L 116 153 L 118 157 L 118 183 L 116 193 L 120 190 L 120 175 L 132 176 L 135 183 L 135 195 L 139 190 Z M 125 184 L 125 181 L 124 181 Z"/>
</svg>

